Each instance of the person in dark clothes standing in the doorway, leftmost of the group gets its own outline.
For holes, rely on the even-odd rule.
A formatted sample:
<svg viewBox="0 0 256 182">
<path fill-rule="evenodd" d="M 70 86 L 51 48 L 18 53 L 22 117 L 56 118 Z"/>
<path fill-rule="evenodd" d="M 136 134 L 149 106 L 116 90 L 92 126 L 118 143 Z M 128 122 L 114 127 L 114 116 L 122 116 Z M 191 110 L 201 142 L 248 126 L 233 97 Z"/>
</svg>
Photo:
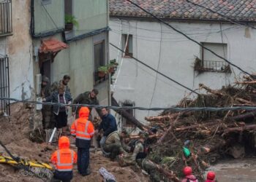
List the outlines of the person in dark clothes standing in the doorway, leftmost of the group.
<svg viewBox="0 0 256 182">
<path fill-rule="evenodd" d="M 47 76 L 42 76 L 41 92 L 40 96 L 42 99 L 50 96 L 50 80 Z M 51 117 L 52 107 L 49 105 L 42 105 L 42 127 L 44 129 L 52 128 L 50 126 L 50 117 Z"/>
</svg>

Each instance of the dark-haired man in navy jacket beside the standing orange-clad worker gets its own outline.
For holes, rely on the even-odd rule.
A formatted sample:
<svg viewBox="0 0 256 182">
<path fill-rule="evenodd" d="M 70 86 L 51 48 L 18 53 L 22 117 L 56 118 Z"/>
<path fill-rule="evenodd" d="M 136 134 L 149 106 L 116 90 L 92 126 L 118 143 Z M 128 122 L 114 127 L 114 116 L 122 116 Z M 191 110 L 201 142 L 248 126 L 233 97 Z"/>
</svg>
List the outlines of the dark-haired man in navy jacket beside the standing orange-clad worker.
<svg viewBox="0 0 256 182">
<path fill-rule="evenodd" d="M 115 117 L 112 114 L 108 113 L 108 108 L 102 108 L 101 112 L 102 122 L 99 124 L 98 129 L 95 130 L 95 133 L 98 133 L 100 130 L 103 130 L 103 136 L 99 141 L 99 145 L 103 149 L 103 146 L 108 135 L 111 132 L 117 131 L 117 125 Z"/>
</svg>

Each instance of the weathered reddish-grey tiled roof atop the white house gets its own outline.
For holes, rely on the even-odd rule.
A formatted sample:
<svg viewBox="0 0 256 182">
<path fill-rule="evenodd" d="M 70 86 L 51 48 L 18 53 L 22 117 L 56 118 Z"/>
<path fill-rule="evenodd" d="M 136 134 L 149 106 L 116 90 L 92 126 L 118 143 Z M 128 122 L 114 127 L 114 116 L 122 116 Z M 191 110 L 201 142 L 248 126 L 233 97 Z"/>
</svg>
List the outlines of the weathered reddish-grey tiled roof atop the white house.
<svg viewBox="0 0 256 182">
<path fill-rule="evenodd" d="M 109 0 L 110 16 L 151 17 L 125 0 Z M 221 15 L 186 0 L 132 0 L 144 9 L 164 18 L 225 20 Z M 256 0 L 190 0 L 237 20 L 256 21 Z"/>
</svg>

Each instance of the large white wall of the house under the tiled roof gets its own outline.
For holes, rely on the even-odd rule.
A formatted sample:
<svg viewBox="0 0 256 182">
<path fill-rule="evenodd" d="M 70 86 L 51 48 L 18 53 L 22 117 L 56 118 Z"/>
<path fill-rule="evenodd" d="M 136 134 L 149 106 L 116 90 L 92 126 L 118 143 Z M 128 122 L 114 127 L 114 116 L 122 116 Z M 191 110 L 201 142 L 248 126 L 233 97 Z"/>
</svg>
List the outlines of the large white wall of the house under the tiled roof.
<svg viewBox="0 0 256 182">
<path fill-rule="evenodd" d="M 239 25 L 219 23 L 171 23 L 200 42 L 226 43 L 227 59 L 246 71 L 256 69 L 256 32 Z M 133 36 L 133 55 L 189 88 L 197 89 L 199 83 L 213 89 L 232 84 L 238 69 L 231 67 L 232 74 L 194 71 L 195 58 L 200 58 L 200 47 L 179 33 L 157 22 L 110 19 L 110 42 L 121 48 L 121 33 Z M 132 100 L 135 106 L 166 107 L 175 105 L 189 93 L 183 87 L 157 75 L 130 58 L 122 58 L 121 52 L 110 46 L 110 59 L 117 58 L 120 74 L 116 74 L 114 97 L 119 101 Z M 121 61 L 123 60 L 123 61 Z M 122 64 L 121 64 L 122 63 Z M 118 71 L 117 71 L 118 72 Z M 135 111 L 137 119 L 157 112 Z"/>
</svg>

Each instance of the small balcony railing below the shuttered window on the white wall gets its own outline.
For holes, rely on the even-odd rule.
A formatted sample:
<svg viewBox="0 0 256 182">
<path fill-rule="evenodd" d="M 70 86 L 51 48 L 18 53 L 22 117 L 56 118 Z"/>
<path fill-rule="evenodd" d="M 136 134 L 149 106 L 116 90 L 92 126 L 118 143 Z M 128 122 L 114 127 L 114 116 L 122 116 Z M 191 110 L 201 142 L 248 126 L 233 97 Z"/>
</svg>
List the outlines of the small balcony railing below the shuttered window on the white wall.
<svg viewBox="0 0 256 182">
<path fill-rule="evenodd" d="M 230 72 L 230 66 L 225 61 L 217 60 L 200 60 L 195 66 L 196 71 L 217 71 Z"/>
</svg>

